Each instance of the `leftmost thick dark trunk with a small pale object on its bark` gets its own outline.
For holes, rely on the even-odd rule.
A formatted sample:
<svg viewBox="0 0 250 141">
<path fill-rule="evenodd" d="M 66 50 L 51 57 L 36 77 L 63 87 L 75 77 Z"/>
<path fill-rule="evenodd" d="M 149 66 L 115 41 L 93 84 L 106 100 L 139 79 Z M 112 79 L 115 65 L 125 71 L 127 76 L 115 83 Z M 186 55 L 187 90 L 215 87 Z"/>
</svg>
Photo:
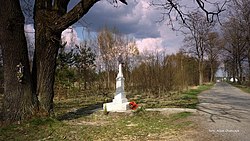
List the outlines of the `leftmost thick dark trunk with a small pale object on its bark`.
<svg viewBox="0 0 250 141">
<path fill-rule="evenodd" d="M 0 5 L 0 42 L 4 66 L 3 120 L 12 122 L 34 114 L 37 100 L 32 94 L 24 16 L 19 0 L 0 1 Z M 23 71 L 18 73 L 17 65 L 20 63 Z"/>
</svg>

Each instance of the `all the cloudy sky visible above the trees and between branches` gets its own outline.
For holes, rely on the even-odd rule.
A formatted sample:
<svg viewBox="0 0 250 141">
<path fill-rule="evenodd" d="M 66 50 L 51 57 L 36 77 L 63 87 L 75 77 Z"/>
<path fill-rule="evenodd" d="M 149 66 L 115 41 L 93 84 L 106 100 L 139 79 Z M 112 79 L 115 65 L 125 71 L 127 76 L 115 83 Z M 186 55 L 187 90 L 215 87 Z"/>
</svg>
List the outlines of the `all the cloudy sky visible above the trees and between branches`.
<svg viewBox="0 0 250 141">
<path fill-rule="evenodd" d="M 152 0 L 127 0 L 128 5 L 118 2 L 111 4 L 101 0 L 95 4 L 90 11 L 83 16 L 80 22 L 72 25 L 62 33 L 62 38 L 68 44 L 79 44 L 83 39 L 89 38 L 88 33 L 96 35 L 103 27 L 116 28 L 120 33 L 129 35 L 136 40 L 140 52 L 143 51 L 165 51 L 168 54 L 175 53 L 183 46 L 183 35 L 173 31 L 169 25 L 169 19 L 159 22 L 162 18 L 162 9 L 150 6 Z M 183 8 L 197 7 L 194 0 L 179 0 Z M 79 0 L 71 0 L 68 10 L 72 9 Z M 176 13 L 172 12 L 175 19 Z M 83 23 L 83 24 L 82 24 Z M 85 27 L 83 27 L 83 25 Z M 178 28 L 178 22 L 173 22 Z M 26 25 L 26 31 L 33 31 L 32 24 Z M 30 35 L 32 36 L 32 35 Z M 73 38 L 72 38 L 73 37 Z"/>
</svg>

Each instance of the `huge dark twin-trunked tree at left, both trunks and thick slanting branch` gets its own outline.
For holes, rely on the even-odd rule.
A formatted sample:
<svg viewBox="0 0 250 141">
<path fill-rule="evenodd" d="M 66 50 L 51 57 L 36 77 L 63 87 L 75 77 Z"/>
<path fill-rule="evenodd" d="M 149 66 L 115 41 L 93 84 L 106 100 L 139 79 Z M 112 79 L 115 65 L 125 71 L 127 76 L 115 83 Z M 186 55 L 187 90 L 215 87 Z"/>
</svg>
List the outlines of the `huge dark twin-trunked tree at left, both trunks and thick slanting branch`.
<svg viewBox="0 0 250 141">
<path fill-rule="evenodd" d="M 37 106 L 45 115 L 52 113 L 56 57 L 61 33 L 77 22 L 99 0 L 80 1 L 67 12 L 69 1 L 35 1 L 33 12 L 36 48 L 32 77 L 24 35 L 25 18 L 19 0 L 0 2 L 0 41 L 4 60 L 4 120 L 24 119 L 34 113 Z M 125 1 L 122 2 L 126 4 Z"/>
</svg>

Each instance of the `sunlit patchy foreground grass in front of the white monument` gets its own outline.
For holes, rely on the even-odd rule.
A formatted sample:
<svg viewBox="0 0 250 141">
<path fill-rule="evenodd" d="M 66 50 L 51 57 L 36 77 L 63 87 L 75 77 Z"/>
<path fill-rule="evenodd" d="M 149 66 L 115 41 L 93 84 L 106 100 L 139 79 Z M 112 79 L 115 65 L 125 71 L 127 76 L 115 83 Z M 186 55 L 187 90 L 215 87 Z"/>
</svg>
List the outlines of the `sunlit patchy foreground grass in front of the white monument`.
<svg viewBox="0 0 250 141">
<path fill-rule="evenodd" d="M 78 119 L 58 121 L 35 119 L 0 130 L 0 140 L 147 140 L 162 139 L 192 126 L 183 120 L 191 113 L 164 115 L 160 112 L 133 113 L 100 112 Z"/>
</svg>

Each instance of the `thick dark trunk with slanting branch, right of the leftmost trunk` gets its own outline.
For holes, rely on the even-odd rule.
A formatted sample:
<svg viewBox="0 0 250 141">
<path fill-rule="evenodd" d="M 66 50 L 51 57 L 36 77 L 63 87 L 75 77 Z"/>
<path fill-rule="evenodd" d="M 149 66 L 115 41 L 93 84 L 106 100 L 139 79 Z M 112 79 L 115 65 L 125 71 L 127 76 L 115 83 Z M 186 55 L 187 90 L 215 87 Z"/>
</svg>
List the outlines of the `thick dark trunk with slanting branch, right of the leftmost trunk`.
<svg viewBox="0 0 250 141">
<path fill-rule="evenodd" d="M 70 0 L 36 0 L 34 8 L 35 60 L 33 77 L 39 110 L 45 115 L 53 114 L 56 57 L 61 33 L 77 22 L 99 0 L 80 1 L 67 13 Z"/>
</svg>

